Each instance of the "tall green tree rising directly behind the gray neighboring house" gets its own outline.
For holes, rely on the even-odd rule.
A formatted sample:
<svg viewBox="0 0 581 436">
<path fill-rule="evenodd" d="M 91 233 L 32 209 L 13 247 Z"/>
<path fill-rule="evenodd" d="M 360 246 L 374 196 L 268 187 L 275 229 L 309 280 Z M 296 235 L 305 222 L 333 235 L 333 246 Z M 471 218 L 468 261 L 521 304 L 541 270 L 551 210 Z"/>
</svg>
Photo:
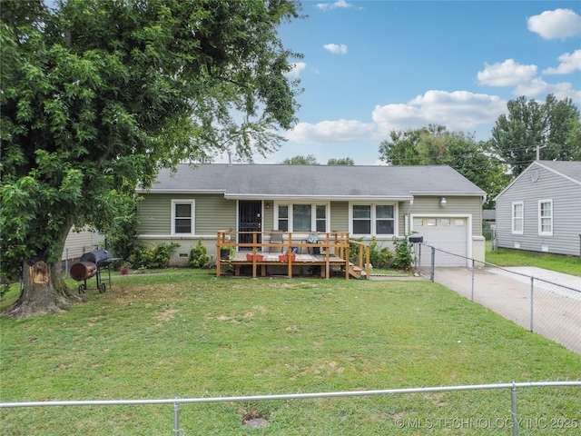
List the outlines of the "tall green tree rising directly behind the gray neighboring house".
<svg viewBox="0 0 581 436">
<path fill-rule="evenodd" d="M 507 109 L 492 129 L 491 145 L 513 175 L 537 159 L 537 149 L 542 160 L 581 160 L 581 118 L 571 99 L 549 94 L 541 103 L 518 97 Z"/>
</svg>

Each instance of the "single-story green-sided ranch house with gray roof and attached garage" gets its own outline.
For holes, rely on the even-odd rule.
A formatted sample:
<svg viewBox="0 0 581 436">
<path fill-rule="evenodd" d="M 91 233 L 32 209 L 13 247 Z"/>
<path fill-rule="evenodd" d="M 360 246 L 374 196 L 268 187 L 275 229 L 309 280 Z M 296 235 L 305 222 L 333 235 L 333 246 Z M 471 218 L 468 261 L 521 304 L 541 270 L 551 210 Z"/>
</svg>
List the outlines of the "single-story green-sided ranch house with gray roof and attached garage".
<svg viewBox="0 0 581 436">
<path fill-rule="evenodd" d="M 348 232 L 382 246 L 413 231 L 458 254 L 441 253 L 438 265 L 466 266 L 467 257 L 485 256 L 486 193 L 447 165 L 180 164 L 140 193 L 138 238 L 179 243 L 172 265 L 187 263 L 201 239 L 215 255 L 217 232 L 225 229 Z"/>
</svg>

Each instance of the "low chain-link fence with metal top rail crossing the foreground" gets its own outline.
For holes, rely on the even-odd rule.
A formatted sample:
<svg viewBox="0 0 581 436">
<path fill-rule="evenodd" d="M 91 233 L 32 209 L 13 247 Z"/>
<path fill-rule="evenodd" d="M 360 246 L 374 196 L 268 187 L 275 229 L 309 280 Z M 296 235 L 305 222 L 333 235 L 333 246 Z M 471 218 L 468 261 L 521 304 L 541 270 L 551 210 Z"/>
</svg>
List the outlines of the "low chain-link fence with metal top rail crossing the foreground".
<svg viewBox="0 0 581 436">
<path fill-rule="evenodd" d="M 0 403 L 2 434 L 574 435 L 581 381 Z"/>
</svg>

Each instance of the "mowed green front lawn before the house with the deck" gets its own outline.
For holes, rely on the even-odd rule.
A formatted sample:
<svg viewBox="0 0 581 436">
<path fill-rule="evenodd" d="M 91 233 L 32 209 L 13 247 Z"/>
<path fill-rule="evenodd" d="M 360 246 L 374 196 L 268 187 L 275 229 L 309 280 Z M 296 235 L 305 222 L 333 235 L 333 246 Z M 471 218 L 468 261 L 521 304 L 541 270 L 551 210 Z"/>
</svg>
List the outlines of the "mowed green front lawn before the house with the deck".
<svg viewBox="0 0 581 436">
<path fill-rule="evenodd" d="M 8 293 L 2 306 L 16 296 Z M 25 321 L 0 318 L 1 401 L 581 379 L 581 356 L 420 279 L 216 280 L 208 271 L 172 270 L 115 276 L 113 289 L 89 290 L 84 297 L 86 302 L 68 312 Z M 568 389 L 528 402 L 540 411 L 557 402 L 560 413 L 578 420 L 580 393 Z M 182 426 L 189 429 L 184 434 L 338 434 L 350 428 L 343 434 L 390 434 L 396 430 L 394 417 L 433 416 L 448 410 L 446 405 L 454 416 L 480 405 L 495 417 L 510 408 L 506 391 L 467 395 L 470 400 L 433 394 L 188 405 L 182 406 Z M 527 401 L 520 401 L 526 408 Z M 242 427 L 248 411 L 267 417 L 271 426 Z M 172 429 L 169 406 L 1 413 L 2 434 L 169 434 Z"/>
</svg>

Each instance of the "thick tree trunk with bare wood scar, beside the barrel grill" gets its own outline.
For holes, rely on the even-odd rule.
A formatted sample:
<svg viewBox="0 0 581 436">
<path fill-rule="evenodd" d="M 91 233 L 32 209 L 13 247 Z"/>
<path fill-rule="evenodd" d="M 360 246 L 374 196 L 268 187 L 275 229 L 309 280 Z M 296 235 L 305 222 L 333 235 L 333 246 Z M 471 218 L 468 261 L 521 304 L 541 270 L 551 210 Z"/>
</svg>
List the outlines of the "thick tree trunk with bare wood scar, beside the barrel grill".
<svg viewBox="0 0 581 436">
<path fill-rule="evenodd" d="M 55 290 L 51 272 L 58 269 L 40 258 L 23 264 L 23 287 L 18 301 L 5 310 L 5 314 L 19 319 L 44 313 L 64 312 L 70 305 L 66 287 Z M 58 281 L 61 283 L 61 281 Z M 62 283 L 64 284 L 64 282 Z"/>
</svg>

